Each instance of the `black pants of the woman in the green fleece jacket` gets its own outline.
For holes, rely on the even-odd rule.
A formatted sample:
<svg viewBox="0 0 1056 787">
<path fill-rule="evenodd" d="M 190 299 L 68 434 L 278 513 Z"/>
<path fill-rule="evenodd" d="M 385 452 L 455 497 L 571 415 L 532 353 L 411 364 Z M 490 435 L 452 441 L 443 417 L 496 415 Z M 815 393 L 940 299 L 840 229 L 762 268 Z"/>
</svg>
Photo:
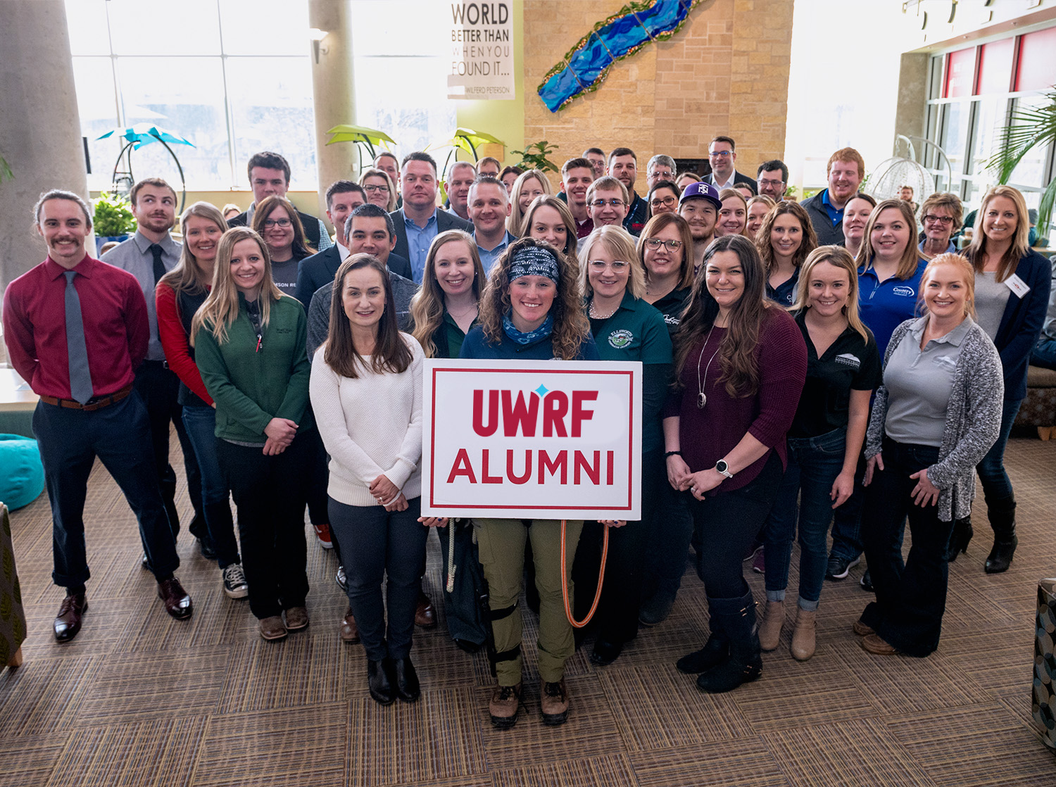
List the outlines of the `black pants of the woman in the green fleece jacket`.
<svg viewBox="0 0 1056 787">
<path fill-rule="evenodd" d="M 216 457 L 239 510 L 242 568 L 249 585 L 249 611 L 258 618 L 304 606 L 304 489 L 308 443 L 298 434 L 275 456 L 263 448 L 216 439 Z"/>
</svg>

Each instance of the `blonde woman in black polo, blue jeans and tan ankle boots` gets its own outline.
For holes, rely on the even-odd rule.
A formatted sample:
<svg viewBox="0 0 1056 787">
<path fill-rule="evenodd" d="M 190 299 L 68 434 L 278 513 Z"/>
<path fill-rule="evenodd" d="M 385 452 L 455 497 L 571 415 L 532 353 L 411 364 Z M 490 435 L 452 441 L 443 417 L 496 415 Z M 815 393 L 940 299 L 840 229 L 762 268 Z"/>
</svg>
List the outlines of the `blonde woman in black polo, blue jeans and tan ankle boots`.
<svg viewBox="0 0 1056 787">
<path fill-rule="evenodd" d="M 859 318 L 857 271 L 847 249 L 821 246 L 811 251 L 799 271 L 793 308 L 807 343 L 807 381 L 788 433 L 788 467 L 763 526 L 767 607 L 759 643 L 773 651 L 780 640 L 798 519 L 799 598 L 791 651 L 806 661 L 814 655 L 832 509 L 846 503 L 854 488 L 881 363 L 876 341 Z"/>
</svg>

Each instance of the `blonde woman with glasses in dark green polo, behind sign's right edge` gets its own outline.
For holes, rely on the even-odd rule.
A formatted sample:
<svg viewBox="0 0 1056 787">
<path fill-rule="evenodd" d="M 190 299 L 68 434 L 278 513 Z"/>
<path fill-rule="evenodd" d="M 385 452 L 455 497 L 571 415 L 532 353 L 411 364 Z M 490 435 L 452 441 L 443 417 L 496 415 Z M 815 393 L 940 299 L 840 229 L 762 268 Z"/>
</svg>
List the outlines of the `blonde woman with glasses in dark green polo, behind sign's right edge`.
<svg viewBox="0 0 1056 787">
<path fill-rule="evenodd" d="M 606 581 L 598 606 L 598 632 L 590 660 L 610 664 L 638 635 L 642 554 L 655 536 L 661 490 L 666 476 L 660 409 L 671 382 L 671 336 L 663 315 L 650 306 L 645 270 L 635 239 L 620 226 L 599 227 L 582 245 L 580 283 L 586 296 L 590 332 L 602 360 L 642 362 L 642 519 L 609 533 Z M 585 523 L 572 577 L 577 618 L 590 608 L 598 584 L 604 523 Z"/>
</svg>

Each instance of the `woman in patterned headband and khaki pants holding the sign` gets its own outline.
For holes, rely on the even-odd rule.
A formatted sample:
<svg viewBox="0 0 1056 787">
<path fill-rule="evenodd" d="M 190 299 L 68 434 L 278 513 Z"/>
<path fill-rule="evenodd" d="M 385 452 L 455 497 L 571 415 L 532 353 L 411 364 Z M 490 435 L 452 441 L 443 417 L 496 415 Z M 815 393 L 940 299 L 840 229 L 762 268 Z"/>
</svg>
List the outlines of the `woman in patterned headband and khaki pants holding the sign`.
<svg viewBox="0 0 1056 787">
<path fill-rule="evenodd" d="M 480 299 L 480 324 L 463 342 L 463 358 L 599 360 L 590 323 L 583 311 L 576 266 L 545 241 L 522 238 L 495 263 Z M 543 723 L 564 724 L 568 716 L 565 661 L 576 650 L 565 616 L 562 582 L 571 594 L 571 556 L 583 521 L 568 521 L 565 549 L 568 574 L 561 571 L 559 520 L 474 520 L 480 564 L 489 587 L 495 672 L 491 723 L 512 727 L 521 707 L 521 617 L 516 614 L 524 575 L 525 543 L 530 539 L 540 595 L 539 673 L 543 680 Z"/>
</svg>

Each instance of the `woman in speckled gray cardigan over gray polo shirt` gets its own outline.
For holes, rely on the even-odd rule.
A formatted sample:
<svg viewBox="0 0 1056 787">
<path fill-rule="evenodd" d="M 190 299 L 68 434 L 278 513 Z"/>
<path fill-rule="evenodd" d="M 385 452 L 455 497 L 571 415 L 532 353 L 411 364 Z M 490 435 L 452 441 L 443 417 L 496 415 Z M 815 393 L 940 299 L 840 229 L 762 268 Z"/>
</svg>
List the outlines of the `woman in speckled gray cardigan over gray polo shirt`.
<svg viewBox="0 0 1056 787">
<path fill-rule="evenodd" d="M 1001 423 L 1001 358 L 973 319 L 970 265 L 939 255 L 921 291 L 926 314 L 891 335 L 866 435 L 862 536 L 876 600 L 853 629 L 878 655 L 927 656 L 939 647 L 946 543 L 970 510 L 975 466 Z M 903 563 L 907 517 L 912 547 Z"/>
</svg>

